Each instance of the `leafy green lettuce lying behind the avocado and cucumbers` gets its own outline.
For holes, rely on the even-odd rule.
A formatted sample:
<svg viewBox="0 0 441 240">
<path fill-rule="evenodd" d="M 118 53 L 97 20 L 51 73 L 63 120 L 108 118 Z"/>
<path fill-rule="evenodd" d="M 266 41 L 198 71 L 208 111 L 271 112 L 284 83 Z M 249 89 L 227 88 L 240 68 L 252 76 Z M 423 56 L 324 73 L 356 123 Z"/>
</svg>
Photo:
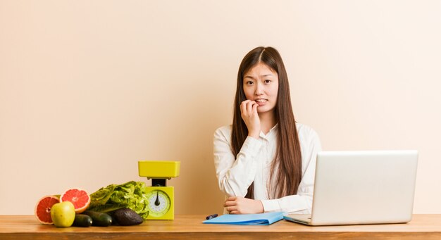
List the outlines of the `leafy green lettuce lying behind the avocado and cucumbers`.
<svg viewBox="0 0 441 240">
<path fill-rule="evenodd" d="M 145 220 L 149 215 L 148 205 L 145 182 L 130 181 L 101 187 L 90 194 L 90 205 L 87 210 L 108 213 L 120 208 L 130 208 Z"/>
</svg>

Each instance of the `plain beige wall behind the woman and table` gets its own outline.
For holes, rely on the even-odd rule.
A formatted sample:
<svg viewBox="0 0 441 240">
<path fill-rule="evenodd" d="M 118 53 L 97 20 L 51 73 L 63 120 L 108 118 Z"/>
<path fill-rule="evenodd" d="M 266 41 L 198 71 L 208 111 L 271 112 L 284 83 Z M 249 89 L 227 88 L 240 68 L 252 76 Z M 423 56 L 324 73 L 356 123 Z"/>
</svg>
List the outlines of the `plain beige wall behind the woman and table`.
<svg viewBox="0 0 441 240">
<path fill-rule="evenodd" d="M 0 0 L 0 214 L 180 160 L 176 213 L 221 213 L 213 131 L 238 65 L 275 46 L 325 150 L 418 149 L 441 213 L 440 1 Z"/>
</svg>

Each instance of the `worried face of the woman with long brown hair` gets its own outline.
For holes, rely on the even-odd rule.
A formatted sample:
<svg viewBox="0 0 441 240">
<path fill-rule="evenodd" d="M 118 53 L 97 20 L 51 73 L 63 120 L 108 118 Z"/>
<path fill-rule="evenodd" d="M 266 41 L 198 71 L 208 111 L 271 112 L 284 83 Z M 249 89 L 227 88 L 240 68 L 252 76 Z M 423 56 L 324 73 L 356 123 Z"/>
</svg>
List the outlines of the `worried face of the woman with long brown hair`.
<svg viewBox="0 0 441 240">
<path fill-rule="evenodd" d="M 257 63 L 248 72 L 245 72 L 243 86 L 247 99 L 259 104 L 257 113 L 274 110 L 277 103 L 279 76 L 268 65 Z"/>
</svg>

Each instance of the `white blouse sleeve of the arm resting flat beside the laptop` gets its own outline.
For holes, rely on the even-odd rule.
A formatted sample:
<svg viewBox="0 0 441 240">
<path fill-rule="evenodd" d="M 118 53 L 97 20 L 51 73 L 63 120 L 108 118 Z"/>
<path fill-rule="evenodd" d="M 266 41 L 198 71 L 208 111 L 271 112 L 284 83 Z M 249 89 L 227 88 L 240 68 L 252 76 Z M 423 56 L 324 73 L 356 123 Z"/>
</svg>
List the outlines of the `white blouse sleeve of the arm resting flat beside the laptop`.
<svg viewBox="0 0 441 240">
<path fill-rule="evenodd" d="M 317 153 L 321 151 L 321 143 L 314 130 L 308 128 L 303 131 L 305 131 L 304 135 L 299 136 L 302 149 L 302 180 L 297 194 L 278 199 L 261 200 L 265 212 L 311 213 L 316 158 Z"/>
</svg>

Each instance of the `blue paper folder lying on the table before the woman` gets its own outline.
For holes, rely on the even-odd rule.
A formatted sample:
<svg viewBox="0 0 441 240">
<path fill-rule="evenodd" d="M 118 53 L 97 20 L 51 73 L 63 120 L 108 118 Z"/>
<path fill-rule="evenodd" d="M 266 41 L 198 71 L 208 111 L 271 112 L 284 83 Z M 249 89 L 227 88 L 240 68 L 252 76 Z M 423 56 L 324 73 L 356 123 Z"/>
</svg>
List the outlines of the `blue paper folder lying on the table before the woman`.
<svg viewBox="0 0 441 240">
<path fill-rule="evenodd" d="M 271 225 L 283 219 L 283 212 L 257 213 L 257 214 L 224 214 L 205 220 L 204 223 L 210 224 L 230 224 L 230 225 Z"/>
</svg>

